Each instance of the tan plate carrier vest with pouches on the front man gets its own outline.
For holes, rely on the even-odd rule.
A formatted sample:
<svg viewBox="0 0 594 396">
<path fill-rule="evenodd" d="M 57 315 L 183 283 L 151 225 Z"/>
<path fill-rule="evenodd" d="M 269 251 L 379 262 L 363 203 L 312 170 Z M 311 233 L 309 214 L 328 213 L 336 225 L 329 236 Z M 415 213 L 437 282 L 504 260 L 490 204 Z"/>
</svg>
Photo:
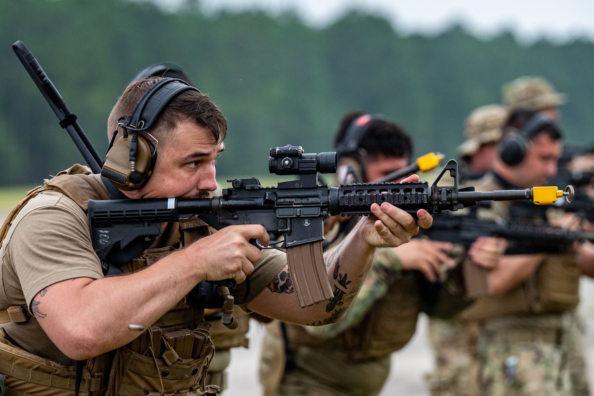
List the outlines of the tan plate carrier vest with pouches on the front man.
<svg viewBox="0 0 594 396">
<path fill-rule="evenodd" d="M 59 191 L 74 200 L 81 209 L 87 210 L 87 200 L 111 199 L 98 175 L 90 175 L 82 165 L 74 165 L 67 171 L 45 181 L 44 186 L 34 188 L 12 210 L 0 229 L 0 244 L 17 213 L 36 194 L 42 191 Z M 169 227 L 168 227 L 169 229 Z M 173 223 L 169 235 L 162 240 L 166 247 L 145 250 L 140 256 L 124 266 L 124 273 L 140 271 L 157 260 L 210 234 L 208 226 L 200 219 Z M 35 320 L 25 306 L 0 307 L 0 323 Z M 151 329 L 143 332 L 131 343 L 116 350 L 87 360 L 80 385 L 80 395 L 93 396 L 144 396 L 144 395 L 204 395 L 215 394 L 216 386 L 201 384 L 206 377 L 208 364 L 214 354 L 204 311 L 192 307 L 184 297 L 175 307 L 165 313 Z M 185 330 L 193 332 L 191 356 L 181 359 L 170 343 L 161 335 Z M 192 330 L 191 330 L 192 329 Z M 3 330 L 3 329 L 2 329 Z M 143 341 L 144 340 L 144 341 Z M 148 341 L 147 341 L 148 340 Z M 184 338 L 187 340 L 187 338 Z M 143 344 L 144 342 L 144 344 Z M 161 345 L 157 356 L 153 351 Z M 176 344 L 175 344 L 176 345 Z M 140 348 L 140 349 L 139 349 Z M 177 348 L 177 345 L 176 345 Z M 135 350 L 136 349 L 136 350 Z M 179 350 L 181 353 L 181 350 Z M 184 348 L 187 354 L 187 346 Z M 6 377 L 7 396 L 72 396 L 74 395 L 75 367 L 67 367 L 31 354 L 0 337 L 0 373 Z"/>
</svg>

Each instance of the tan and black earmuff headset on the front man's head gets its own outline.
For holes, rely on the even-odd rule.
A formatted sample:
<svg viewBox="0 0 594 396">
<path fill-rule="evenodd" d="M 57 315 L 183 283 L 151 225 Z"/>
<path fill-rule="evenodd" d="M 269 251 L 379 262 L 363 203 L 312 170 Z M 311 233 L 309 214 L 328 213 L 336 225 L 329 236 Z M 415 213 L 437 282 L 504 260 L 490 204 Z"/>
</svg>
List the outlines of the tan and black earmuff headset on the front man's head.
<svg viewBox="0 0 594 396">
<path fill-rule="evenodd" d="M 107 158 L 101 175 L 120 190 L 131 191 L 142 188 L 153 173 L 157 161 L 157 142 L 149 131 L 165 106 L 181 92 L 197 90 L 179 78 L 163 78 L 144 93 L 128 117 L 120 117 L 118 126 L 109 143 Z M 116 141 L 118 129 L 124 137 Z M 153 145 L 139 132 L 149 135 Z"/>
</svg>

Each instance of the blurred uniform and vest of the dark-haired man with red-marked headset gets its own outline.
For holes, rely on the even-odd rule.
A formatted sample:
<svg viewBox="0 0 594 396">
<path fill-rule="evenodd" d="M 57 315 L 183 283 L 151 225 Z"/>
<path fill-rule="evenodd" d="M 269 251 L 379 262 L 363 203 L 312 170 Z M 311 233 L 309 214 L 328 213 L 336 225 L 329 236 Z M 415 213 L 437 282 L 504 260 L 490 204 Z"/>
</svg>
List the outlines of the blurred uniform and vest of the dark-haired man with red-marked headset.
<svg viewBox="0 0 594 396">
<path fill-rule="evenodd" d="M 402 348 L 415 331 L 419 303 L 416 282 L 410 281 L 400 271 L 393 250 L 380 249 L 361 291 L 339 322 L 325 326 L 269 323 L 260 364 L 264 395 L 378 394 L 390 372 L 391 352 Z M 369 320 L 374 307 L 385 309 L 394 304 L 394 298 L 406 297 L 408 307 L 393 310 L 391 322 L 399 322 L 399 329 L 394 331 L 389 325 L 384 329 L 384 338 L 390 341 L 382 345 L 389 350 L 377 348 L 375 340 L 357 337 L 369 332 L 366 325 L 377 324 Z"/>
</svg>

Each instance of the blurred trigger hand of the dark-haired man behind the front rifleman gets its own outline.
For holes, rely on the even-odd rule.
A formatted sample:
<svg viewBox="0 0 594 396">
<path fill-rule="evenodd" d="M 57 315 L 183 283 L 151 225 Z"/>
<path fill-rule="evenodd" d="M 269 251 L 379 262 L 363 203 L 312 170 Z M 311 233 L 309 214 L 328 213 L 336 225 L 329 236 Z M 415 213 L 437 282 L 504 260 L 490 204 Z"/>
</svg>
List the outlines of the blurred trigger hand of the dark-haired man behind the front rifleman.
<svg viewBox="0 0 594 396">
<path fill-rule="evenodd" d="M 448 268 L 456 266 L 456 260 L 447 254 L 451 251 L 449 242 L 412 238 L 409 243 L 392 249 L 398 255 L 404 271 L 421 271 L 431 282 L 437 281 L 444 274 L 442 264 Z"/>
</svg>

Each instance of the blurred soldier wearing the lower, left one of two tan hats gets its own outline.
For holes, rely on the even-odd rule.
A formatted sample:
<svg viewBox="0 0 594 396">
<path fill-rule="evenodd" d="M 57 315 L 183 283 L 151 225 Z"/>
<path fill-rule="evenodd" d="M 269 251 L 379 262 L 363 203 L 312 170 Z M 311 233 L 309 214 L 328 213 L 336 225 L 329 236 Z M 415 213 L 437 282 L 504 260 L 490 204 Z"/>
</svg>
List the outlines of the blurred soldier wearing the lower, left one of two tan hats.
<svg viewBox="0 0 594 396">
<path fill-rule="evenodd" d="M 507 111 L 500 105 L 481 106 L 466 118 L 465 142 L 460 144 L 462 182 L 482 177 L 493 165 L 503 134 Z M 485 248 L 500 252 L 501 242 L 485 238 Z M 429 319 L 429 340 L 435 353 L 435 370 L 427 376 L 432 395 L 464 396 L 478 392 L 476 375 L 476 326 L 457 320 Z"/>
</svg>

